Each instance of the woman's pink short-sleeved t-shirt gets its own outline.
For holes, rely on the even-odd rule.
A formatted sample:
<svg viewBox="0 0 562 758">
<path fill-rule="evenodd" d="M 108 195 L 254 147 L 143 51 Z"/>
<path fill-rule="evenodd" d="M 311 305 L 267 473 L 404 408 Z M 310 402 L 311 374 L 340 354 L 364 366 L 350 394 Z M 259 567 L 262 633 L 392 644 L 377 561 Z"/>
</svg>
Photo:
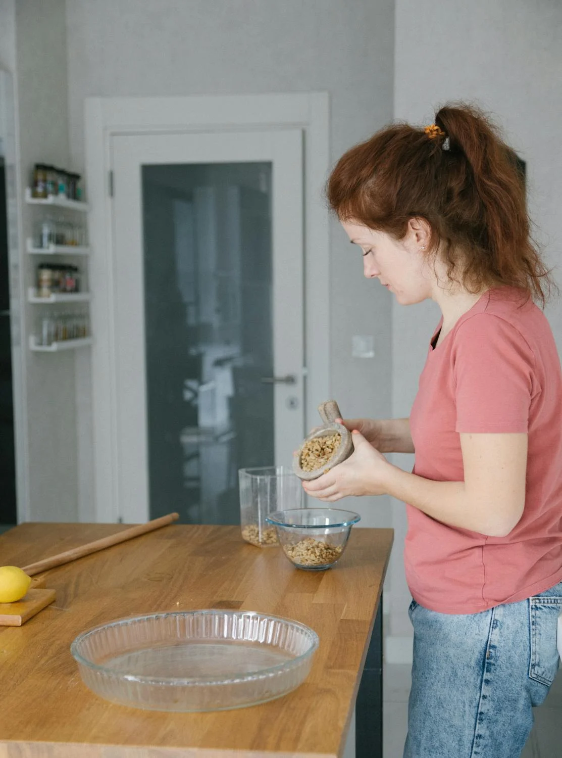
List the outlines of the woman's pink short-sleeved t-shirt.
<svg viewBox="0 0 562 758">
<path fill-rule="evenodd" d="M 406 506 L 414 600 L 476 613 L 562 581 L 562 372 L 542 311 L 517 290 L 483 295 L 439 346 L 430 343 L 410 425 L 414 473 L 434 481 L 464 481 L 460 432 L 529 435 L 525 509 L 507 537 L 450 527 Z"/>
</svg>

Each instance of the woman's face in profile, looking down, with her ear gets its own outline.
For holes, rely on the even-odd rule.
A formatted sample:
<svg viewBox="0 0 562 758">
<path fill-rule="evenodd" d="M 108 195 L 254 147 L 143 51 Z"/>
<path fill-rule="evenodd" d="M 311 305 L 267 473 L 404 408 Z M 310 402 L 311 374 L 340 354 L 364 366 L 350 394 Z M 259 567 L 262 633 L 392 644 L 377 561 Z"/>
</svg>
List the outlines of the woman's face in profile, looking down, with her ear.
<svg viewBox="0 0 562 758">
<path fill-rule="evenodd" d="M 394 293 L 401 305 L 413 305 L 432 296 L 432 267 L 428 266 L 423 228 L 410 225 L 403 240 L 395 240 L 385 232 L 373 231 L 362 224 L 342 222 L 352 243 L 363 252 L 363 273 L 367 279 L 378 279 Z"/>
</svg>

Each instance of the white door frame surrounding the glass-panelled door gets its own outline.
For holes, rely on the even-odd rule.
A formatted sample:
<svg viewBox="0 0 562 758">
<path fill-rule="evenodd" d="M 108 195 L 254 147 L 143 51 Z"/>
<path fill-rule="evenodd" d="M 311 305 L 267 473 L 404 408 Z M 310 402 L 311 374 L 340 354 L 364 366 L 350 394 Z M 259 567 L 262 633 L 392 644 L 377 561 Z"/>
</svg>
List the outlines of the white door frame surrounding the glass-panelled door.
<svg viewBox="0 0 562 758">
<path fill-rule="evenodd" d="M 300 128 L 304 139 L 305 421 L 329 397 L 329 213 L 323 184 L 329 171 L 329 96 L 299 94 L 86 98 L 86 177 L 92 255 L 92 425 L 95 522 L 117 522 L 117 403 L 114 366 L 114 251 L 111 137 L 142 133 Z"/>
</svg>

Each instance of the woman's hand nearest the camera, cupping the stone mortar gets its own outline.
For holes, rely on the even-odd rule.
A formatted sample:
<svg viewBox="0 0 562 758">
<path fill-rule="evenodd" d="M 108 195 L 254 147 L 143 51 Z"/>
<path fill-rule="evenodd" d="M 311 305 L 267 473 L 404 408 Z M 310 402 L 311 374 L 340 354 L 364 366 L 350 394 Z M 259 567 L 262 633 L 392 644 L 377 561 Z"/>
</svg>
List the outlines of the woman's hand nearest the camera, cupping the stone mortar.
<svg viewBox="0 0 562 758">
<path fill-rule="evenodd" d="M 312 497 L 335 503 L 350 495 L 385 495 L 385 480 L 392 468 L 362 434 L 353 431 L 354 453 L 332 471 L 313 481 L 303 481 L 304 490 Z"/>
</svg>

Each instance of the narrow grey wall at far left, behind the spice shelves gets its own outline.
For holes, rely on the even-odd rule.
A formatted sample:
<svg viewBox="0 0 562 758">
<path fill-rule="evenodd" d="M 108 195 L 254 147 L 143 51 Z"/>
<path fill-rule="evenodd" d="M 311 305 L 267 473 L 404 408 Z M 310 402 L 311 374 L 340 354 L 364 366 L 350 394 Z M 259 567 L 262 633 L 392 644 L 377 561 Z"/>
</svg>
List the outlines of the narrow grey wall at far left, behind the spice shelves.
<svg viewBox="0 0 562 758">
<path fill-rule="evenodd" d="M 65 10 L 64 0 L 3 0 L 0 6 L 0 62 L 14 77 L 20 199 L 36 161 L 68 164 Z M 11 260 L 12 299 L 14 290 L 23 293 L 35 282 L 35 264 L 23 246 L 36 211 L 20 202 L 19 260 Z M 27 335 L 33 330 L 36 309 L 25 303 L 20 315 L 14 382 L 21 384 L 16 394 L 23 394 L 27 487 L 18 488 L 19 518 L 73 521 L 77 515 L 74 359 L 68 354 L 30 352 Z M 18 419 L 20 410 L 16 409 Z M 17 439 L 18 453 L 20 443 L 21 437 Z M 20 454 L 18 472 L 21 465 Z"/>
</svg>

